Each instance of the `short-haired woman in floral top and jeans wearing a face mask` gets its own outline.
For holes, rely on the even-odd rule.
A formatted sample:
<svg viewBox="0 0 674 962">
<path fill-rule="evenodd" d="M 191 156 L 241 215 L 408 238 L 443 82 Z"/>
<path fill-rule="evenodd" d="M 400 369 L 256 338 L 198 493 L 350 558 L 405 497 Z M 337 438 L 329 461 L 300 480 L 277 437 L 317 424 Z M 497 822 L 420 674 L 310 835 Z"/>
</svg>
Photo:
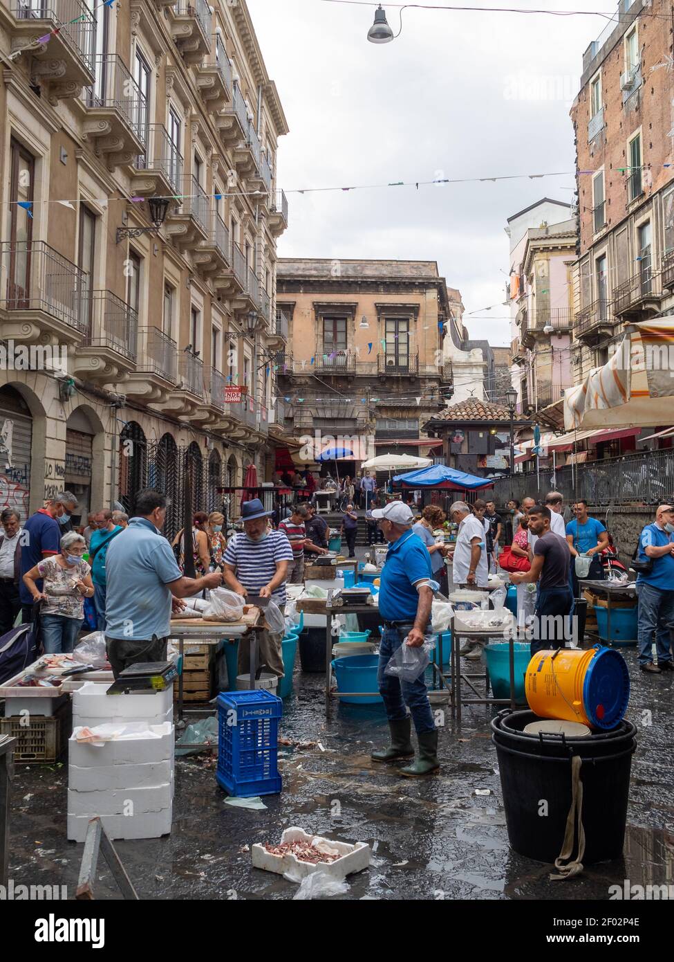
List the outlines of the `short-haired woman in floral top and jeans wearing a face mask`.
<svg viewBox="0 0 674 962">
<path fill-rule="evenodd" d="M 90 568 L 82 555 L 87 542 L 76 531 L 61 539 L 61 554 L 43 558 L 23 576 L 35 601 L 41 601 L 40 624 L 45 654 L 66 654 L 73 650 L 85 617 L 84 599 L 93 595 Z M 42 591 L 36 581 L 44 579 Z"/>
</svg>

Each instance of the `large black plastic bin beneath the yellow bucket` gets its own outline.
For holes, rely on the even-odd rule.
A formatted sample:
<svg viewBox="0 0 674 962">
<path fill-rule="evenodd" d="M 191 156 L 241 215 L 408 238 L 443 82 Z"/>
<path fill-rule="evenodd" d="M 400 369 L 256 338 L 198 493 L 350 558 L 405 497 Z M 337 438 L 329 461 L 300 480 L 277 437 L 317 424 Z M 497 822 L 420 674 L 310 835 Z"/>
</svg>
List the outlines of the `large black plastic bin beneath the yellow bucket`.
<svg viewBox="0 0 674 962">
<path fill-rule="evenodd" d="M 571 758 L 580 755 L 583 863 L 619 858 L 637 729 L 623 721 L 612 731 L 586 738 L 525 734 L 524 726 L 535 721 L 534 712 L 506 710 L 491 722 L 512 848 L 539 862 L 552 863 L 558 857 L 571 807 Z M 575 855 L 577 848 L 573 851 Z"/>
</svg>

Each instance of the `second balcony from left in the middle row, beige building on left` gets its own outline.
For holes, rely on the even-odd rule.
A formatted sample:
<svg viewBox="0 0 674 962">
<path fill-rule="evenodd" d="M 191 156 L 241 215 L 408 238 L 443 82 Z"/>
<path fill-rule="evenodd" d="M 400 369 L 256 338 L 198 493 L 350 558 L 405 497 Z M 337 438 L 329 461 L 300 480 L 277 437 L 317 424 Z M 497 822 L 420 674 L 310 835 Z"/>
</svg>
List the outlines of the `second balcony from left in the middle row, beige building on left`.
<svg viewBox="0 0 674 962">
<path fill-rule="evenodd" d="M 83 91 L 83 139 L 95 142 L 109 169 L 133 165 L 145 153 L 147 101 L 127 65 L 116 54 L 95 58 L 96 81 Z"/>
</svg>

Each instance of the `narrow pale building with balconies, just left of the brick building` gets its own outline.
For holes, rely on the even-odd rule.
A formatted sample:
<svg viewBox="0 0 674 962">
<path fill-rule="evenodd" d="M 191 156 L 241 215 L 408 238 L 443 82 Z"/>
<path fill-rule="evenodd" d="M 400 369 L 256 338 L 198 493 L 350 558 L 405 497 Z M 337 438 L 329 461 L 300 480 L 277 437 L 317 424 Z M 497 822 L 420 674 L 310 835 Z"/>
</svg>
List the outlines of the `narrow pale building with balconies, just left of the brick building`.
<svg viewBox="0 0 674 962">
<path fill-rule="evenodd" d="M 556 403 L 573 383 L 576 222 L 569 218 L 570 210 L 568 204 L 543 198 L 508 218 L 512 387 L 523 413 Z"/>
</svg>

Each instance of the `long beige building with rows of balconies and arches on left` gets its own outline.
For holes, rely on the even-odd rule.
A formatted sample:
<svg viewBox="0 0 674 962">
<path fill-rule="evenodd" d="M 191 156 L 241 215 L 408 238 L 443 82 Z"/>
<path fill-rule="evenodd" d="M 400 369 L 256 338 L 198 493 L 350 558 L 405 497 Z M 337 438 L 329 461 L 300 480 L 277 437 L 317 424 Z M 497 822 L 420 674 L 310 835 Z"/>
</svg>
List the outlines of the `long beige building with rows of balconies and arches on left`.
<svg viewBox="0 0 674 962">
<path fill-rule="evenodd" d="M 0 338 L 64 358 L 0 371 L 0 502 L 177 509 L 188 467 L 210 509 L 279 434 L 287 121 L 246 4 L 0 0 L 0 51 Z"/>
</svg>

